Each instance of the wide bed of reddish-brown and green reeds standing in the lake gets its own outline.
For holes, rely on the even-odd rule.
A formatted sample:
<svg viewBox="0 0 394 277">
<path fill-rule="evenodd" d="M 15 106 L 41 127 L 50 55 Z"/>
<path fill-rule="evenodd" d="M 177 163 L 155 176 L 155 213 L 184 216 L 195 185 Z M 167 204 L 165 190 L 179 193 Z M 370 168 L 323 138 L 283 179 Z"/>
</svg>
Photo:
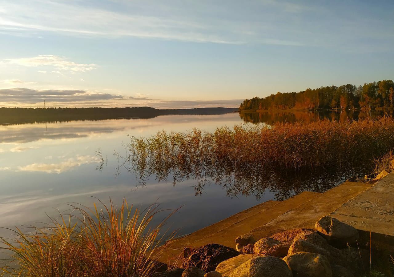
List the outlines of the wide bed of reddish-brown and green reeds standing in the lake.
<svg viewBox="0 0 394 277">
<path fill-rule="evenodd" d="M 237 125 L 214 132 L 161 131 L 149 138 L 131 137 L 126 153 L 117 156 L 118 169 L 125 167 L 136 173 L 139 183 L 145 183 L 151 175 L 159 180 L 171 177 L 174 184 L 183 178 L 195 178 L 199 193 L 206 182 L 214 180 L 227 187 L 228 194 L 236 195 L 245 191 L 260 194 L 273 187 L 279 191 L 282 187 L 278 178 L 289 174 L 313 177 L 314 172 L 320 172 L 327 177 L 331 172 L 342 176 L 350 171 L 370 173 L 375 159 L 393 147 L 394 119 L 382 117 Z"/>
</svg>

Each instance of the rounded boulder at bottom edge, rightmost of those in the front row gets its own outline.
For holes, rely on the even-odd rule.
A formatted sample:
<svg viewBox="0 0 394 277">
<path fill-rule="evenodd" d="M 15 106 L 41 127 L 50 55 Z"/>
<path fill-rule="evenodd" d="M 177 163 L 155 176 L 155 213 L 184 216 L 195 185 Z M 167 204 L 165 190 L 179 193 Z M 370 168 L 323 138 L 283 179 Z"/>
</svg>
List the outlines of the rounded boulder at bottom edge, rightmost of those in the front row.
<svg viewBox="0 0 394 277">
<path fill-rule="evenodd" d="M 283 258 L 294 277 L 332 277 L 331 265 L 321 254 L 298 252 Z"/>
</svg>

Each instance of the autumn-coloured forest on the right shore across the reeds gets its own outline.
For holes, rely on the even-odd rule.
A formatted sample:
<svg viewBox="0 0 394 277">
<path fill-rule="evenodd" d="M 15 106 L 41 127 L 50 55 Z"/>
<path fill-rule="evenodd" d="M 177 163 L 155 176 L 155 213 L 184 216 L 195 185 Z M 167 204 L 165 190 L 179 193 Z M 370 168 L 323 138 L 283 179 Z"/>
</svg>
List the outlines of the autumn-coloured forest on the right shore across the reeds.
<svg viewBox="0 0 394 277">
<path fill-rule="evenodd" d="M 365 83 L 306 89 L 300 92 L 271 94 L 268 97 L 245 99 L 240 110 L 315 110 L 315 109 L 376 109 L 393 108 L 394 82 L 382 80 Z"/>
</svg>

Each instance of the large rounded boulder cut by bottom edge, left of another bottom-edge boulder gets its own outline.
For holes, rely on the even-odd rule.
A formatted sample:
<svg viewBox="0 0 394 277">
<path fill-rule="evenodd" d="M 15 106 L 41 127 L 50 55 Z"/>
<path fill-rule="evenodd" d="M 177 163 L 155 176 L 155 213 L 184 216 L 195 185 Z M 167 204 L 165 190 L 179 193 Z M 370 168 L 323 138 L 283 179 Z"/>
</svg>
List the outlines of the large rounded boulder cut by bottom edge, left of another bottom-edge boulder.
<svg viewBox="0 0 394 277">
<path fill-rule="evenodd" d="M 238 266 L 230 277 L 292 277 L 292 273 L 281 258 L 258 256 Z"/>
</svg>

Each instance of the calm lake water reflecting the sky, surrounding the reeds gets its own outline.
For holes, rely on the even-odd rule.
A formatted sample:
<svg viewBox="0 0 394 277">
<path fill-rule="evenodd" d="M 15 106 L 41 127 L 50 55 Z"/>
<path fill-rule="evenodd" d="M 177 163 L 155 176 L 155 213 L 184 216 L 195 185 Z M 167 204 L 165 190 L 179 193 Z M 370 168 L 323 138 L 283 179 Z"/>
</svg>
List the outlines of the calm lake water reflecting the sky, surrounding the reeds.
<svg viewBox="0 0 394 277">
<path fill-rule="evenodd" d="M 339 117 L 338 117 L 339 116 Z M 351 115 L 346 115 L 351 117 Z M 341 119 L 342 115 L 331 116 Z M 76 202 L 93 207 L 96 199 L 145 208 L 155 202 L 162 208 L 180 208 L 170 219 L 171 229 L 187 234 L 269 199 L 285 199 L 303 190 L 324 191 L 344 176 L 288 175 L 275 176 L 267 186 L 252 193 L 229 192 L 224 184 L 208 182 L 196 188 L 197 181 L 149 178 L 145 184 L 134 173 L 121 170 L 113 153 L 125 152 L 129 136 L 152 136 L 159 130 L 184 132 L 192 128 L 215 130 L 218 126 L 319 120 L 316 113 L 297 115 L 161 115 L 151 119 L 108 119 L 0 125 L 0 227 L 48 222 L 64 203 Z M 298 119 L 297 119 L 298 118 Z M 330 118 L 330 117 L 327 117 Z M 99 168 L 103 153 L 105 164 Z M 99 206 L 100 208 L 100 206 Z M 3 230 L 1 236 L 9 236 Z"/>
</svg>

